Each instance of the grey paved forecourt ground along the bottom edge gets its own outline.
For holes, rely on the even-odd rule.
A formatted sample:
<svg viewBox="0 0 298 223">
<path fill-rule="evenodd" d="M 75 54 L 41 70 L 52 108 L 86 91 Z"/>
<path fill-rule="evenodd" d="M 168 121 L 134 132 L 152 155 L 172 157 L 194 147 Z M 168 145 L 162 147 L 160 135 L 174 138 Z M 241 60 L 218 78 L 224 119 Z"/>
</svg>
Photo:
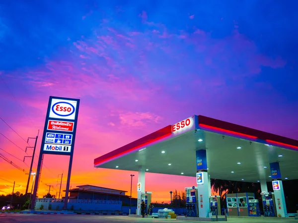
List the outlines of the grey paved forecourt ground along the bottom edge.
<svg viewBox="0 0 298 223">
<path fill-rule="evenodd" d="M 198 223 L 195 221 L 180 221 L 169 219 L 131 218 L 128 216 L 98 216 L 98 215 L 35 215 L 35 214 L 0 214 L 0 223 Z M 298 220 L 281 221 L 279 219 L 228 219 L 229 223 L 298 223 Z"/>
</svg>

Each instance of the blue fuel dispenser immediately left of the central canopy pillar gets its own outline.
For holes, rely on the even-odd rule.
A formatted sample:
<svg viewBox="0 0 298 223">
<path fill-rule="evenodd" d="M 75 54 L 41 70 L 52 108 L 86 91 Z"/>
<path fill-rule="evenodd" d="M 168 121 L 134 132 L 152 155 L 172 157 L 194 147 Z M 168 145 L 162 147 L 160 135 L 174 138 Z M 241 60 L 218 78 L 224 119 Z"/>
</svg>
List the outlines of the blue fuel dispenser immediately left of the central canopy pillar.
<svg viewBox="0 0 298 223">
<path fill-rule="evenodd" d="M 198 187 L 185 187 L 186 217 L 199 217 Z"/>
</svg>

